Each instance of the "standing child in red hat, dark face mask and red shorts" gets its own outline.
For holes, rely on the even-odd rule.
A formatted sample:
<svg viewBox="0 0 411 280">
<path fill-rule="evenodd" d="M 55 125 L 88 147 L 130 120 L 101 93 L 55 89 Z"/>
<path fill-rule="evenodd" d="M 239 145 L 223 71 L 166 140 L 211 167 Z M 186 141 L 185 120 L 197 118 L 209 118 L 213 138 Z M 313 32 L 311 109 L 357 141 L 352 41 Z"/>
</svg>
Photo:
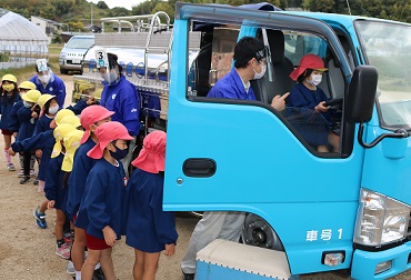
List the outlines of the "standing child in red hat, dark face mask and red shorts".
<svg viewBox="0 0 411 280">
<path fill-rule="evenodd" d="M 121 233 L 126 173 L 120 160 L 128 153 L 127 140 L 132 139 L 126 127 L 117 121 L 100 124 L 96 136 L 99 142 L 87 154 L 97 161 L 87 177 L 78 213 L 79 220 L 80 217 L 89 220 L 86 230 L 89 253 L 81 268 L 83 280 L 92 279 L 98 262 L 107 279 L 117 279 L 111 252 Z"/>
</svg>

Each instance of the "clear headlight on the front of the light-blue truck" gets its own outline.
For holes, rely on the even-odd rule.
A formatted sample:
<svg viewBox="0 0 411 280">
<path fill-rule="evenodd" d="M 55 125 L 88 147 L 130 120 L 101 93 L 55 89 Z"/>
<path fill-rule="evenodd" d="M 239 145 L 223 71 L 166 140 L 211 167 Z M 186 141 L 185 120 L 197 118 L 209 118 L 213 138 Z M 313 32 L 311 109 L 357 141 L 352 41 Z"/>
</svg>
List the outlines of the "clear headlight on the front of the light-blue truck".
<svg viewBox="0 0 411 280">
<path fill-rule="evenodd" d="M 380 247 L 404 239 L 410 210 L 410 207 L 402 202 L 361 189 L 354 242 Z"/>
</svg>

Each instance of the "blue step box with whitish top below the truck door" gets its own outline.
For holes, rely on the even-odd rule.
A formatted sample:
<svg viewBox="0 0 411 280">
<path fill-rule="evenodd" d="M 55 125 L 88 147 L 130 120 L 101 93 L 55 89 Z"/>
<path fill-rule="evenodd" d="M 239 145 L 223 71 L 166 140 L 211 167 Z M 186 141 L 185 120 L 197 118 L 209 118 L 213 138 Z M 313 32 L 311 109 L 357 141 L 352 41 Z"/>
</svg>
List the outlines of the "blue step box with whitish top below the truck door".
<svg viewBox="0 0 411 280">
<path fill-rule="evenodd" d="M 284 252 L 215 239 L 197 253 L 196 279 L 299 279 Z"/>
</svg>

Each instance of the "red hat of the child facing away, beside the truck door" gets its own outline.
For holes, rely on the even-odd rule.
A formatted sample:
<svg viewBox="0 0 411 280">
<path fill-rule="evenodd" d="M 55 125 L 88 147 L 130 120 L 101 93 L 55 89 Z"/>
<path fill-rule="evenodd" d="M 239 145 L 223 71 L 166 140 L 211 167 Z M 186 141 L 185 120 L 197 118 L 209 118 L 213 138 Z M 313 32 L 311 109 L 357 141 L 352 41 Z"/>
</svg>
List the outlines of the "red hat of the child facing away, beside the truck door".
<svg viewBox="0 0 411 280">
<path fill-rule="evenodd" d="M 139 157 L 131 164 L 150 173 L 164 171 L 166 132 L 156 130 L 149 133 L 143 141 Z"/>
</svg>

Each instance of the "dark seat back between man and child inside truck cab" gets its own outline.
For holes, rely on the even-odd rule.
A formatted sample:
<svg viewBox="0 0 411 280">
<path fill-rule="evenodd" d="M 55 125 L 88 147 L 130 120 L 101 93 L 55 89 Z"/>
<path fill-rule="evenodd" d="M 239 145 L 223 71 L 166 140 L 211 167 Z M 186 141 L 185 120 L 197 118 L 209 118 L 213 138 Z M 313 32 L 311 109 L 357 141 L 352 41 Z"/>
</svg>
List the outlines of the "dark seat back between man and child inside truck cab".
<svg viewBox="0 0 411 280">
<path fill-rule="evenodd" d="M 283 94 L 292 89 L 294 82 L 289 74 L 294 70 L 292 62 L 284 57 L 284 34 L 280 30 L 267 29 L 268 42 L 271 52 L 273 81 L 269 81 L 269 74 L 260 80 L 251 81 L 255 99 L 263 103 L 271 103 L 277 94 Z"/>
</svg>

